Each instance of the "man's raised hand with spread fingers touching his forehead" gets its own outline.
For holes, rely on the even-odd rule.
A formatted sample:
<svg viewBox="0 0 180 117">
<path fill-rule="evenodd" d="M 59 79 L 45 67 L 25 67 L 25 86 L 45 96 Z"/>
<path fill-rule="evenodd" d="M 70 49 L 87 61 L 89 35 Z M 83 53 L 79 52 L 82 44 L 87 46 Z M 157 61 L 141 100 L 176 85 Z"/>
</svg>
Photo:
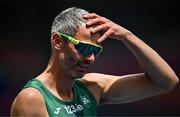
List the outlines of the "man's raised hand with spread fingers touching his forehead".
<svg viewBox="0 0 180 117">
<path fill-rule="evenodd" d="M 108 37 L 122 40 L 131 33 L 122 26 L 95 13 L 86 14 L 84 15 L 84 18 L 92 19 L 86 23 L 87 26 L 96 26 L 95 28 L 92 28 L 92 33 L 102 33 L 102 36 L 97 40 L 98 42 L 102 42 Z"/>
</svg>

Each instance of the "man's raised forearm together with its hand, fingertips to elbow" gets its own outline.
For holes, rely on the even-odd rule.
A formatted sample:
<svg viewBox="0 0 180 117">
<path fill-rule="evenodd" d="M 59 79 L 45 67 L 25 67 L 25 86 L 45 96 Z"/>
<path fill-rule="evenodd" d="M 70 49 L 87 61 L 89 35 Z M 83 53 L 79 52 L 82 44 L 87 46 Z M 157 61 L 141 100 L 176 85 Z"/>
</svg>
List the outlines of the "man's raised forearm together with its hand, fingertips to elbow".
<svg viewBox="0 0 180 117">
<path fill-rule="evenodd" d="M 147 44 L 137 38 L 127 29 L 97 14 L 88 14 L 85 18 L 92 18 L 88 26 L 99 24 L 91 29 L 92 33 L 104 32 L 97 40 L 102 42 L 107 37 L 121 40 L 136 56 L 146 75 L 158 86 L 172 89 L 178 83 L 178 78 L 171 67 Z"/>
</svg>

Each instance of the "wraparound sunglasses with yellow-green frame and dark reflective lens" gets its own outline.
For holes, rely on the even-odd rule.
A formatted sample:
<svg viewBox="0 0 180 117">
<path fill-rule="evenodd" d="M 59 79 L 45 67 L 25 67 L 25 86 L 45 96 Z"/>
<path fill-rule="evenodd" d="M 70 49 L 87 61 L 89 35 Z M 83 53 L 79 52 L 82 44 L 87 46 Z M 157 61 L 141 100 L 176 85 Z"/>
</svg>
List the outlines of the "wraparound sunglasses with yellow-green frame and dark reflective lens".
<svg viewBox="0 0 180 117">
<path fill-rule="evenodd" d="M 97 57 L 103 50 L 103 47 L 97 44 L 84 42 L 77 40 L 69 35 L 64 33 L 59 33 L 64 39 L 72 42 L 75 45 L 75 48 L 85 57 L 94 53 L 95 57 Z"/>
</svg>

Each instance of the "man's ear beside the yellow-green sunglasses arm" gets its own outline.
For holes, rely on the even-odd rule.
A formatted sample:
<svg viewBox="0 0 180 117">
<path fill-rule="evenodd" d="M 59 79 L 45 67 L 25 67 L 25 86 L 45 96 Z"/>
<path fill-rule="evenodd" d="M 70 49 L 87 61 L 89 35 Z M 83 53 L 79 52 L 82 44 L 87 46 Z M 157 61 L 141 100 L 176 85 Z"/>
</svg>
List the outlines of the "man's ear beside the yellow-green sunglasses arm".
<svg viewBox="0 0 180 117">
<path fill-rule="evenodd" d="M 60 50 L 62 46 L 62 37 L 58 33 L 53 33 L 51 35 L 51 42 L 52 42 L 52 46 L 55 49 Z"/>
</svg>

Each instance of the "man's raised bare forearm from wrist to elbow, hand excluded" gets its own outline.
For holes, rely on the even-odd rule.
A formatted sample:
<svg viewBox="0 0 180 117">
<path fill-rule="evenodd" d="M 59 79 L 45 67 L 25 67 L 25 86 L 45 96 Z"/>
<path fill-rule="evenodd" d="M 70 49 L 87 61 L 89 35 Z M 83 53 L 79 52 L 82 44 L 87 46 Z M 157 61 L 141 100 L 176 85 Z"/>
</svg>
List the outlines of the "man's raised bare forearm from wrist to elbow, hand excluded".
<svg viewBox="0 0 180 117">
<path fill-rule="evenodd" d="M 122 42 L 136 56 L 146 75 L 157 85 L 172 89 L 178 78 L 171 67 L 151 47 L 132 33 L 127 33 Z"/>
</svg>

